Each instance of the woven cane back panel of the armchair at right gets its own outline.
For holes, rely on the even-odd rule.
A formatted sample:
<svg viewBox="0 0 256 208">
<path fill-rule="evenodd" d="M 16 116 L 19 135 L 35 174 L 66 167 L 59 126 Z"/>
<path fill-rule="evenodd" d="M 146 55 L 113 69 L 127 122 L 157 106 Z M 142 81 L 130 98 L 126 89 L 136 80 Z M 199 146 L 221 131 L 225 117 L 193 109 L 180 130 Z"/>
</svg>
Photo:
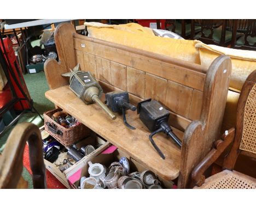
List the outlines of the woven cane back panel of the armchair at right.
<svg viewBox="0 0 256 208">
<path fill-rule="evenodd" d="M 245 105 L 240 149 L 256 154 L 256 84 L 249 92 Z"/>
</svg>

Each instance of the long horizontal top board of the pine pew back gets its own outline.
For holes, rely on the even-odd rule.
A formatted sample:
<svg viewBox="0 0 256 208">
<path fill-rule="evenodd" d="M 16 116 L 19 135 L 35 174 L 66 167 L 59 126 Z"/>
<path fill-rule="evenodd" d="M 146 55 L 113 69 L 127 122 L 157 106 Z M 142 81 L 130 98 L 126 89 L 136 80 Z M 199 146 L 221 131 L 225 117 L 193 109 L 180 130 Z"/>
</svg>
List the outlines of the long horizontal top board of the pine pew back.
<svg viewBox="0 0 256 208">
<path fill-rule="evenodd" d="M 88 40 L 89 39 L 87 38 L 74 38 L 74 48 L 94 54 L 95 56 L 112 60 L 113 62 L 124 64 L 126 66 L 148 72 L 149 74 L 169 79 L 171 81 L 183 84 L 191 88 L 195 88 L 201 91 L 203 90 L 205 74 L 199 71 L 190 70 L 189 68 L 189 66 L 191 68 L 196 68 L 196 64 L 190 63 L 187 64 L 188 66 L 184 66 L 181 64 L 182 61 L 179 61 L 180 65 L 175 65 L 171 63 L 171 60 L 173 59 L 171 59 L 170 57 L 144 51 L 144 54 L 132 53 L 126 50 L 98 44 L 96 42 Z M 81 44 L 85 44 L 85 47 L 81 47 Z M 154 54 L 154 58 L 152 58 L 153 55 L 150 57 L 148 55 L 146 56 L 146 54 Z M 165 57 L 165 59 L 167 59 L 166 62 L 161 60 L 162 57 Z M 170 60 L 168 58 L 170 58 Z M 199 68 L 201 67 L 200 65 L 198 66 Z"/>
</svg>

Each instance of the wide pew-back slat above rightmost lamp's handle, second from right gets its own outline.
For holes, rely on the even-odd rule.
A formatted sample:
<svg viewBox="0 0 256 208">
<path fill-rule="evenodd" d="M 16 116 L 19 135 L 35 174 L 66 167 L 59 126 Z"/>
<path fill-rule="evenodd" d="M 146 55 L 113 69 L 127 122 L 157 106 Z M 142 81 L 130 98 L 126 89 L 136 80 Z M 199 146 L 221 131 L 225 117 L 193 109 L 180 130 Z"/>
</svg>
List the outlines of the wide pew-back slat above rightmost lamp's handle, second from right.
<svg viewBox="0 0 256 208">
<path fill-rule="evenodd" d="M 189 118 L 193 89 L 168 81 L 166 106 L 174 113 Z"/>
</svg>

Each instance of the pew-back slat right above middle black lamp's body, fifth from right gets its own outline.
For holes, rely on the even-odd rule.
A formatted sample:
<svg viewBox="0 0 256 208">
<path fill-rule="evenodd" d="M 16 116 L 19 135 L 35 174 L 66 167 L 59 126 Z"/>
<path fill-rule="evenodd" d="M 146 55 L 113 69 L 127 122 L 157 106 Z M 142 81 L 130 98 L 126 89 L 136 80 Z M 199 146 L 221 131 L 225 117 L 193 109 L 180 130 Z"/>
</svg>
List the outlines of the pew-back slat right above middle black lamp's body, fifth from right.
<svg viewBox="0 0 256 208">
<path fill-rule="evenodd" d="M 115 62 L 110 62 L 111 84 L 122 90 L 126 90 L 126 66 Z"/>
</svg>

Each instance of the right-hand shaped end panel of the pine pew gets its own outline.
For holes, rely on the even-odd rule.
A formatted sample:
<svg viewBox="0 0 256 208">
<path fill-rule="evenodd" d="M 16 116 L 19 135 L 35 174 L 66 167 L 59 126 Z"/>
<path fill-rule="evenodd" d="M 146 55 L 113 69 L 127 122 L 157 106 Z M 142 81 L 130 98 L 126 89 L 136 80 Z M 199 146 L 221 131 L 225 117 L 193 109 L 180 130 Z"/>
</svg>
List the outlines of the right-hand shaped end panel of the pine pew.
<svg viewBox="0 0 256 208">
<path fill-rule="evenodd" d="M 191 122 L 184 132 L 178 187 L 194 187 L 190 175 L 192 170 L 220 137 L 230 75 L 231 60 L 228 56 L 216 58 L 207 71 L 201 118 Z"/>
</svg>

